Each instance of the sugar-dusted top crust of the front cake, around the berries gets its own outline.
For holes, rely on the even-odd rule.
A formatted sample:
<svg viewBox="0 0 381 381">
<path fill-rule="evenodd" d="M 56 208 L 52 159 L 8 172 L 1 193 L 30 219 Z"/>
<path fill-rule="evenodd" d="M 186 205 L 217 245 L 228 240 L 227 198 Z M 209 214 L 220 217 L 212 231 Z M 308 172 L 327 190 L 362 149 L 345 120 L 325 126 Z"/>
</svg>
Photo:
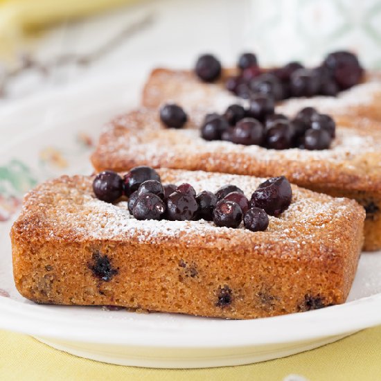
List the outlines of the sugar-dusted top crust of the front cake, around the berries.
<svg viewBox="0 0 381 381">
<path fill-rule="evenodd" d="M 242 188 L 247 197 L 264 179 L 221 175 L 211 172 L 159 170 L 163 184 L 188 182 L 198 192 L 215 191 L 225 184 Z M 91 185 L 94 177 L 60 177 L 32 190 L 13 229 L 26 238 L 44 236 L 46 240 L 112 240 L 137 244 L 186 245 L 218 249 L 256 250 L 268 255 L 325 256 L 350 240 L 348 226 L 361 226 L 364 209 L 345 198 L 333 198 L 292 186 L 290 207 L 279 218 L 269 216 L 264 232 L 217 227 L 213 222 L 134 219 L 127 201 L 108 204 L 96 199 Z M 279 254 L 279 247 L 282 248 Z M 315 248 L 313 250 L 312 248 Z"/>
</svg>

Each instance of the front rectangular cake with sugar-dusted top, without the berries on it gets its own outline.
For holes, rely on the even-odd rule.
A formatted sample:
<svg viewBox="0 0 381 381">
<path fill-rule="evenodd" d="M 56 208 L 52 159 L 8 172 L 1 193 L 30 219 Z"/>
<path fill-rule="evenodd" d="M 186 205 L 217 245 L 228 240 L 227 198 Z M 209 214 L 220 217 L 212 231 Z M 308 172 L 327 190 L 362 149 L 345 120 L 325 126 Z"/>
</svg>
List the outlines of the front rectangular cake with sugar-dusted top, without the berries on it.
<svg viewBox="0 0 381 381">
<path fill-rule="evenodd" d="M 249 195 L 256 177 L 158 171 L 163 184 Z M 11 231 L 15 283 L 37 303 L 118 305 L 250 319 L 344 303 L 363 242 L 355 201 L 292 186 L 292 202 L 266 231 L 213 222 L 136 220 L 108 204 L 94 177 L 60 177 L 24 200 Z"/>
</svg>

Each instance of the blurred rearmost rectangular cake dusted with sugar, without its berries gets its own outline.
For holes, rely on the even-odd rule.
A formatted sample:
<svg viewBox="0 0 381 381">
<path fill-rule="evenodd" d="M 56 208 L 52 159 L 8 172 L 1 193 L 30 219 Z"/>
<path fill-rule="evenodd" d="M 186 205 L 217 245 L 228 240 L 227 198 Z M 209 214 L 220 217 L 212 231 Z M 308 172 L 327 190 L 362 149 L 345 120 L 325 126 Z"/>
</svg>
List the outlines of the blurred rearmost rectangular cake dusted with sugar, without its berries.
<svg viewBox="0 0 381 381">
<path fill-rule="evenodd" d="M 205 83 L 193 71 L 154 69 L 145 83 L 141 102 L 144 107 L 153 108 L 174 102 L 195 114 L 222 113 L 229 105 L 247 102 L 224 88 L 224 82 L 234 74 L 234 69 L 225 69 L 220 80 Z M 278 103 L 276 112 L 292 115 L 303 107 L 315 107 L 326 114 L 361 116 L 380 122 L 380 102 L 381 73 L 367 71 L 363 83 L 342 91 L 337 97 L 290 98 Z"/>
</svg>

